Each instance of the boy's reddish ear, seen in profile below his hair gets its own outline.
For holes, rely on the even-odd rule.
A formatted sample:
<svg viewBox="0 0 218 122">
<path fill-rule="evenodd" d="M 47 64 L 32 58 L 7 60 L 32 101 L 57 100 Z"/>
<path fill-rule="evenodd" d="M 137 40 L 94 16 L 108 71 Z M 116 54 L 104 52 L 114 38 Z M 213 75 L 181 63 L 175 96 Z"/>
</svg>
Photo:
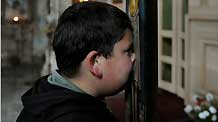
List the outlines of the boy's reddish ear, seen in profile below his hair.
<svg viewBox="0 0 218 122">
<path fill-rule="evenodd" d="M 102 78 L 102 70 L 100 65 L 100 54 L 97 51 L 91 51 L 86 56 L 86 65 L 92 75 Z"/>
</svg>

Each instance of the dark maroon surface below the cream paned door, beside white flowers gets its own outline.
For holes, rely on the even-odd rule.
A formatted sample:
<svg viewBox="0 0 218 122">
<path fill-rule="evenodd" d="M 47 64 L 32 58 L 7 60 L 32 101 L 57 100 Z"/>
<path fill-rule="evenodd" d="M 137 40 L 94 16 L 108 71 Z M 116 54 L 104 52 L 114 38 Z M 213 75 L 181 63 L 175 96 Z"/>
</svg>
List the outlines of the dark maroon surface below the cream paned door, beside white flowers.
<svg viewBox="0 0 218 122">
<path fill-rule="evenodd" d="M 159 89 L 157 111 L 159 122 L 193 122 L 184 112 L 184 100 L 170 92 Z"/>
</svg>

